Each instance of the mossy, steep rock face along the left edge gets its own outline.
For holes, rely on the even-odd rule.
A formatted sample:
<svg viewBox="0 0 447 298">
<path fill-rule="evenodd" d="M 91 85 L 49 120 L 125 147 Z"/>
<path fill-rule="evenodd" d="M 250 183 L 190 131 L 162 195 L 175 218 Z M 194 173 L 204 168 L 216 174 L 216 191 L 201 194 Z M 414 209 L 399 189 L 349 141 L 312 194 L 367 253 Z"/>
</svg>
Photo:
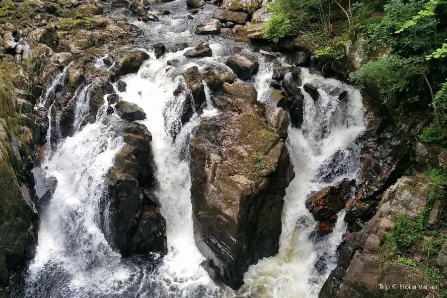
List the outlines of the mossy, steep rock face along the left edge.
<svg viewBox="0 0 447 298">
<path fill-rule="evenodd" d="M 25 177 L 36 158 L 36 126 L 31 106 L 17 97 L 22 89 L 14 88 L 26 78 L 17 66 L 0 71 L 0 297 L 6 297 L 8 273 L 34 258 L 37 245 L 38 213 Z"/>
</svg>

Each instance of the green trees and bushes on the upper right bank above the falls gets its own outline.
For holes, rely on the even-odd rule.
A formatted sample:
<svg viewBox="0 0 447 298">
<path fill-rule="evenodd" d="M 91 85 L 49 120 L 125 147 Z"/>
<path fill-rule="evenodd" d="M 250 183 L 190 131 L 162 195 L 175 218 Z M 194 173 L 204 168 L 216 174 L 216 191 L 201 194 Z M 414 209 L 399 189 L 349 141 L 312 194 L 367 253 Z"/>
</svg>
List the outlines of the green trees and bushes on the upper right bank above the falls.
<svg viewBox="0 0 447 298">
<path fill-rule="evenodd" d="M 350 82 L 377 91 L 396 117 L 431 109 L 420 140 L 447 144 L 447 0 L 276 0 L 269 9 L 272 41 L 297 37 L 327 60 L 344 59 L 348 40 L 360 44 L 367 60 Z"/>
</svg>

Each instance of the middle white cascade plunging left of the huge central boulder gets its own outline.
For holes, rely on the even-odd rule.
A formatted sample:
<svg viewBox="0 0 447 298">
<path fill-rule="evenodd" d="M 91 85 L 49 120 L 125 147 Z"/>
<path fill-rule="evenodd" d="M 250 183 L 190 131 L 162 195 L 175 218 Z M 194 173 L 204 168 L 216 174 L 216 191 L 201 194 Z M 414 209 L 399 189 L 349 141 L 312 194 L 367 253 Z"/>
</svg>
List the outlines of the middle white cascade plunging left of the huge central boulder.
<svg viewBox="0 0 447 298">
<path fill-rule="evenodd" d="M 166 65 L 170 59 L 184 59 L 183 52 L 166 54 L 160 60 L 152 57 L 139 74 L 125 79 L 127 91 L 119 93 L 124 100 L 137 103 L 147 113 L 147 119 L 142 123 L 152 134 L 159 183 L 157 196 L 167 227 L 168 254 L 155 272 L 145 275 L 137 296 L 141 298 L 168 297 L 169 293 L 173 297 L 191 297 L 204 287 L 213 288 L 208 292 L 218 290 L 200 266 L 204 257 L 193 238 L 189 165 L 188 160 L 182 158 L 191 130 L 201 117 L 216 115 L 217 112 L 208 107 L 202 116 L 194 114 L 176 136 L 175 143 L 169 133 L 178 127 L 183 100 L 190 100 L 189 94 L 172 95 L 178 84 L 184 84 L 184 79 L 177 77 L 173 80 L 174 69 Z M 184 69 L 191 66 L 189 64 Z"/>
</svg>

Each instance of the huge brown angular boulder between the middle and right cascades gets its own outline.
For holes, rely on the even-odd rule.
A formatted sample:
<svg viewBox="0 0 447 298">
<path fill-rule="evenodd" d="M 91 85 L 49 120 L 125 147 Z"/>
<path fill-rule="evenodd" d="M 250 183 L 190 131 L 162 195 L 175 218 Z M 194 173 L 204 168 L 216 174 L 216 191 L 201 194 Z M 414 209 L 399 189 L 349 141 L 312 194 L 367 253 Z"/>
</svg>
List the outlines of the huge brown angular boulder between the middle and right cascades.
<svg viewBox="0 0 447 298">
<path fill-rule="evenodd" d="M 283 198 L 295 175 L 284 130 L 279 135 L 261 119 L 225 110 L 205 118 L 190 145 L 195 241 L 211 278 L 232 289 L 250 264 L 278 252 Z M 287 126 L 287 115 L 281 119 Z"/>
</svg>

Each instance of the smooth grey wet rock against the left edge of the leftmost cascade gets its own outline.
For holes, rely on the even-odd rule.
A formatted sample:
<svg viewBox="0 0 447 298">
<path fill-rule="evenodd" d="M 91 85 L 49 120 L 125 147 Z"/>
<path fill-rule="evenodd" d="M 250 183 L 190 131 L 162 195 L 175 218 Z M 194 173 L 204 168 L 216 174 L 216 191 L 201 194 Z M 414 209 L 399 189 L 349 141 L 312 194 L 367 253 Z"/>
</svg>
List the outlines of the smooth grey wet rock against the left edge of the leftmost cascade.
<svg viewBox="0 0 447 298">
<path fill-rule="evenodd" d="M 42 210 L 46 207 L 53 196 L 58 180 L 47 173 L 43 168 L 35 167 L 30 173 L 30 183 L 33 186 L 31 195 L 37 208 Z"/>
</svg>

